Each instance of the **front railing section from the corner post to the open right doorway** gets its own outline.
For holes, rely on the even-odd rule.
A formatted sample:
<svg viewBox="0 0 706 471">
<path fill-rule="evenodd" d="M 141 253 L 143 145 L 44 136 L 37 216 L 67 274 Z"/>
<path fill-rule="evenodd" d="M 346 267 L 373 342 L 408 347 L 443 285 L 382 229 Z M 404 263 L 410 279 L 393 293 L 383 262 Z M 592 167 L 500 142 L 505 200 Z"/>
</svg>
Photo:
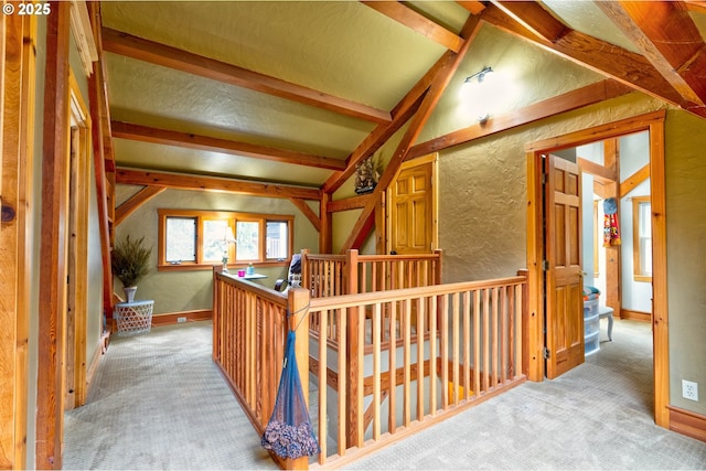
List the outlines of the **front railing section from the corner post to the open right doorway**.
<svg viewBox="0 0 706 471">
<path fill-rule="evenodd" d="M 525 307 L 525 277 L 311 299 L 319 338 L 332 323 L 339 339 L 310 352 L 318 463 L 345 465 L 524 382 Z"/>
</svg>

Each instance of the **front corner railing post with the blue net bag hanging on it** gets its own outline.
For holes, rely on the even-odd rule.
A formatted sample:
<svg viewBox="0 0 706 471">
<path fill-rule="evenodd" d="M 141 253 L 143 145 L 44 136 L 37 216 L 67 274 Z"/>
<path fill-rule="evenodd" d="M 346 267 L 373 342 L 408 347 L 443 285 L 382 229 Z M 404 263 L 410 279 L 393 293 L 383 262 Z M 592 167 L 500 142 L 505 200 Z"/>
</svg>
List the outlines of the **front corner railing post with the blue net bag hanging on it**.
<svg viewBox="0 0 706 471">
<path fill-rule="evenodd" d="M 302 254 L 302 259 L 303 258 Z M 297 335 L 295 354 L 297 355 L 297 366 L 299 368 L 299 377 L 301 378 L 301 390 L 304 395 L 307 409 L 309 408 L 309 298 L 310 291 L 303 288 L 292 288 L 288 293 L 289 330 L 295 330 Z M 296 460 L 287 459 L 285 460 L 284 469 L 308 470 L 309 457 L 302 457 Z"/>
</svg>

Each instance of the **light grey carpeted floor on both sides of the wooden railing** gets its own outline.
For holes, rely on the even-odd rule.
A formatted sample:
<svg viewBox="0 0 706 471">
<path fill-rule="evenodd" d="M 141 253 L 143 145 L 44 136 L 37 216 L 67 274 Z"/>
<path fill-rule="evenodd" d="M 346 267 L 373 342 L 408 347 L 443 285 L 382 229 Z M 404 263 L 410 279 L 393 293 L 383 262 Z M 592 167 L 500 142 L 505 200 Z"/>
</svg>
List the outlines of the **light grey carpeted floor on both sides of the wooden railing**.
<svg viewBox="0 0 706 471">
<path fill-rule="evenodd" d="M 65 415 L 64 469 L 276 469 L 211 361 L 211 323 L 114 339 L 88 404 Z M 616 321 L 613 341 L 558 379 L 346 468 L 706 469 L 706 443 L 656 427 L 652 407 L 650 325 Z"/>
</svg>

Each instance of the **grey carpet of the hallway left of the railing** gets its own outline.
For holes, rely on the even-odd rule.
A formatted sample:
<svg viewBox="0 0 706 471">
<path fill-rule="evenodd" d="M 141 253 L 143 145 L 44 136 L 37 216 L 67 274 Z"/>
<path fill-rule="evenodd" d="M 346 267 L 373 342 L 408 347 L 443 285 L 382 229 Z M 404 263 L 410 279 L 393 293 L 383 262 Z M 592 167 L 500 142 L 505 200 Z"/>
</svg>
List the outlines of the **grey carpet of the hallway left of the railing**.
<svg viewBox="0 0 706 471">
<path fill-rule="evenodd" d="M 278 469 L 211 360 L 210 322 L 110 346 L 84 407 L 65 414 L 64 469 Z"/>
</svg>

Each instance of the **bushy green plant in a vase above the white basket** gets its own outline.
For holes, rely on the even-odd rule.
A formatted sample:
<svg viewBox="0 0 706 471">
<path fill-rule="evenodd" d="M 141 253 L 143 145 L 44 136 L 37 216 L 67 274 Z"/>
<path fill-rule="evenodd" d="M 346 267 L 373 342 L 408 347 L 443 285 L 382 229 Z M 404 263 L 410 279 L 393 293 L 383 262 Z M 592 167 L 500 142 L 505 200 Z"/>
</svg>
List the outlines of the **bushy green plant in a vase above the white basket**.
<svg viewBox="0 0 706 471">
<path fill-rule="evenodd" d="M 147 275 L 151 255 L 152 248 L 145 246 L 145 236 L 130 239 L 128 235 L 124 240 L 117 242 L 113 248 L 110 257 L 113 275 L 122 282 L 128 302 L 135 300 L 137 283 Z"/>
</svg>

